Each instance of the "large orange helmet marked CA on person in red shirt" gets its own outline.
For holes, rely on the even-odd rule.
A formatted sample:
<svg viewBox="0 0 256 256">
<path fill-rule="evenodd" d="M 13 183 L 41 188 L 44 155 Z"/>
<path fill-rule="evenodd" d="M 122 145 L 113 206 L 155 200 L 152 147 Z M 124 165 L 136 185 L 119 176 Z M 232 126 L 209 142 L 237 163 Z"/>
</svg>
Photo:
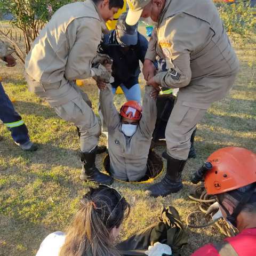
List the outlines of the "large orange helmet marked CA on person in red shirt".
<svg viewBox="0 0 256 256">
<path fill-rule="evenodd" d="M 226 147 L 211 154 L 212 169 L 205 174 L 205 189 L 217 195 L 256 182 L 256 154 L 245 148 Z"/>
</svg>

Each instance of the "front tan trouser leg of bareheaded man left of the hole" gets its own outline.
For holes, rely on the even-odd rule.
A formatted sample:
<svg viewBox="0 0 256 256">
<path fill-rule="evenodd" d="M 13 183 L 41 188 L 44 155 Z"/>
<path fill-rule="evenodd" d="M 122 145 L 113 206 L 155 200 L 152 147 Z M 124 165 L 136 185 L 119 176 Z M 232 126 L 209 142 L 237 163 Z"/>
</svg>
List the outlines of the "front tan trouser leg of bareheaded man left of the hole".
<svg viewBox="0 0 256 256">
<path fill-rule="evenodd" d="M 78 87 L 76 90 L 77 98 L 53 108 L 58 116 L 79 128 L 80 149 L 82 152 L 90 152 L 98 145 L 101 129 L 87 94 Z"/>
</svg>

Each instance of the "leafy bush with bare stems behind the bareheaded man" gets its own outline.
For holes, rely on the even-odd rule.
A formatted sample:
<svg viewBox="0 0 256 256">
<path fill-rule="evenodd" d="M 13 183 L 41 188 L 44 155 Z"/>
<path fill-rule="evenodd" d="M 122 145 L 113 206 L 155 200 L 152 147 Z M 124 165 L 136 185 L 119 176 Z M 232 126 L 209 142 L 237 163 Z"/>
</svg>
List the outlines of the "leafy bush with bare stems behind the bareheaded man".
<svg viewBox="0 0 256 256">
<path fill-rule="evenodd" d="M 1 13 L 12 14 L 11 25 L 21 30 L 21 35 L 14 34 L 14 29 L 0 30 L 1 36 L 9 41 L 15 49 L 19 59 L 24 63 L 26 55 L 31 49 L 39 31 L 50 20 L 52 14 L 62 5 L 73 2 L 72 0 L 1 0 Z M 19 43 L 22 42 L 22 45 Z M 22 47 L 23 46 L 23 47 Z"/>
</svg>

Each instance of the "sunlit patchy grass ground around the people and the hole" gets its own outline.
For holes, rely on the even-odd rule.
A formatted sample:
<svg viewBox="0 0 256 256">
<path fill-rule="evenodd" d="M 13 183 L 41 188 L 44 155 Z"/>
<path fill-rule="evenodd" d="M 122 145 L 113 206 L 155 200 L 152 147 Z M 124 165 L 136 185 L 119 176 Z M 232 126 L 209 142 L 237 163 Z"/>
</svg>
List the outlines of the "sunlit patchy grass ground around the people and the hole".
<svg viewBox="0 0 256 256">
<path fill-rule="evenodd" d="M 198 124 L 195 139 L 198 156 L 187 162 L 182 191 L 165 198 L 150 198 L 144 193 L 148 185 L 113 184 L 132 205 L 119 239 L 155 222 L 163 206 L 176 207 L 183 221 L 188 213 L 197 210 L 197 203 L 187 197 L 194 187 L 189 175 L 214 150 L 238 146 L 256 152 L 256 68 L 249 65 L 255 57 L 247 52 L 247 49 L 255 50 L 255 46 L 236 49 L 241 72 L 234 89 L 228 97 L 214 103 Z M 28 92 L 21 65 L 15 68 L 0 65 L 4 89 L 10 98 L 15 98 L 15 109 L 25 120 L 31 140 L 39 145 L 35 153 L 21 151 L 14 145 L 9 131 L 0 125 L 0 134 L 4 137 L 0 142 L 0 255 L 30 256 L 35 255 L 47 234 L 65 229 L 79 198 L 93 184 L 79 180 L 81 165 L 75 127 L 60 119 L 44 100 Z M 140 81 L 143 88 L 142 77 Z M 89 94 L 98 114 L 97 86 L 89 79 L 83 90 Z M 122 102 L 123 95 L 117 95 L 115 103 Z M 100 138 L 100 143 L 106 143 L 105 137 Z M 164 147 L 157 148 L 159 154 L 163 150 Z M 103 156 L 97 156 L 100 169 Z M 187 229 L 187 232 L 189 241 L 182 255 L 190 255 L 198 247 L 222 238 L 215 227 Z"/>
</svg>

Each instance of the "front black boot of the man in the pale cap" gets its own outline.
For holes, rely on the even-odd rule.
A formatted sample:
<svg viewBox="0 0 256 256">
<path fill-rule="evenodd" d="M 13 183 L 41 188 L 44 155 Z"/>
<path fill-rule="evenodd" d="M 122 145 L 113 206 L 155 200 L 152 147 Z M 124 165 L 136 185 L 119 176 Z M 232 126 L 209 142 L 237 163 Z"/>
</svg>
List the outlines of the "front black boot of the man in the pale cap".
<svg viewBox="0 0 256 256">
<path fill-rule="evenodd" d="M 146 190 L 149 196 L 167 196 L 182 189 L 181 173 L 187 160 L 172 158 L 166 152 L 163 153 L 163 157 L 167 160 L 166 174 L 160 182 Z"/>
</svg>

